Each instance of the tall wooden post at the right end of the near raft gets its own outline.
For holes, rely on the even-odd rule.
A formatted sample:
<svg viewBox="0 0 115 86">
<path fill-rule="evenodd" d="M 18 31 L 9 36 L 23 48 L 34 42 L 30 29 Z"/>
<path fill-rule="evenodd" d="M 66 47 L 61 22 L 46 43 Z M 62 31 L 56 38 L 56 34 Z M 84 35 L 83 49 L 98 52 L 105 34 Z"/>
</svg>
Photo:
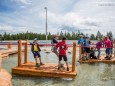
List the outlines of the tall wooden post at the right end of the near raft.
<svg viewBox="0 0 115 86">
<path fill-rule="evenodd" d="M 72 72 L 76 69 L 76 42 L 73 42 Z"/>
</svg>

